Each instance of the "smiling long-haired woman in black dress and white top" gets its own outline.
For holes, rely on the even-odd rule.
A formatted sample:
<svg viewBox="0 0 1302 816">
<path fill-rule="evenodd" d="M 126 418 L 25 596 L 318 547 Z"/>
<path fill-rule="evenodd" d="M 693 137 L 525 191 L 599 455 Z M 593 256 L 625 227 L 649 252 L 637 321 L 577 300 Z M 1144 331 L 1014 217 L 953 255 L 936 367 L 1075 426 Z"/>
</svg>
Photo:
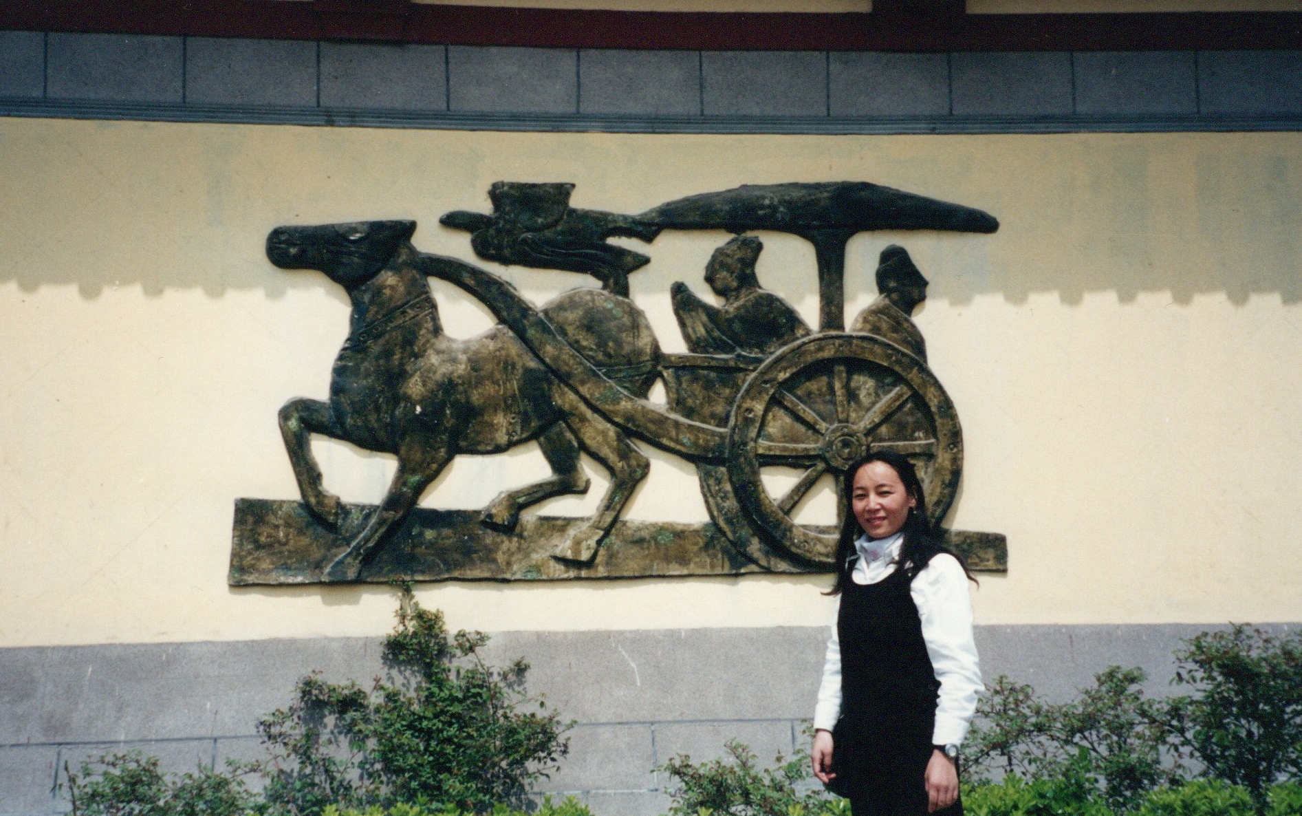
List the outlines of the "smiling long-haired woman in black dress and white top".
<svg viewBox="0 0 1302 816">
<path fill-rule="evenodd" d="M 958 743 L 982 688 L 971 575 L 936 541 L 909 459 L 875 452 L 849 474 L 814 776 L 854 816 L 961 816 Z"/>
</svg>

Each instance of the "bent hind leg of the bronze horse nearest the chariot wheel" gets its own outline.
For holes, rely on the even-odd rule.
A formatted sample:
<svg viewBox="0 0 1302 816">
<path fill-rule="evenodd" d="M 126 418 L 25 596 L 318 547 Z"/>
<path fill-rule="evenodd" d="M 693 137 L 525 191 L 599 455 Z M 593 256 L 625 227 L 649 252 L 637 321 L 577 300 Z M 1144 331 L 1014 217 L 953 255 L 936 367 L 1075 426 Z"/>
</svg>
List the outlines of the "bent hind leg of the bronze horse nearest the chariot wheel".
<svg viewBox="0 0 1302 816">
<path fill-rule="evenodd" d="M 646 478 L 651 463 L 622 431 L 599 416 L 568 388 L 557 387 L 555 400 L 566 413 L 565 424 L 578 437 L 583 450 L 611 474 L 611 484 L 602 497 L 596 514 L 552 552 L 553 558 L 589 564 L 596 557 L 602 539 L 620 518 L 624 505 L 633 497 L 633 489 L 638 483 Z"/>
</svg>

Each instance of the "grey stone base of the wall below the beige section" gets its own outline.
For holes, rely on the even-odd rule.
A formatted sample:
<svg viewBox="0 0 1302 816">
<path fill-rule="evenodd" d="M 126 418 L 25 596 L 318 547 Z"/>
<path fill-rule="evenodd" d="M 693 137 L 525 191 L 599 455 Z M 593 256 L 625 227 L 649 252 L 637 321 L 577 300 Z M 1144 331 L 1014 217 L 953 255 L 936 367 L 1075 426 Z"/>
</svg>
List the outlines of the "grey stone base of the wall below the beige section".
<svg viewBox="0 0 1302 816">
<path fill-rule="evenodd" d="M 1298 623 L 1266 629 L 1285 632 Z M 1203 625 L 983 626 L 987 682 L 1008 674 L 1064 699 L 1108 665 L 1141 666 L 1168 694 L 1172 652 Z M 531 664 L 529 690 L 577 725 L 561 770 L 539 795 L 577 795 L 599 816 L 668 807 L 656 768 L 711 759 L 728 739 L 760 759 L 805 741 L 827 639 L 824 627 L 499 632 L 486 657 Z M 262 755 L 258 718 L 285 705 L 294 682 L 383 674 L 374 638 L 246 640 L 0 649 L 0 816 L 60 813 L 56 786 L 105 751 L 137 748 L 172 770 Z"/>
</svg>

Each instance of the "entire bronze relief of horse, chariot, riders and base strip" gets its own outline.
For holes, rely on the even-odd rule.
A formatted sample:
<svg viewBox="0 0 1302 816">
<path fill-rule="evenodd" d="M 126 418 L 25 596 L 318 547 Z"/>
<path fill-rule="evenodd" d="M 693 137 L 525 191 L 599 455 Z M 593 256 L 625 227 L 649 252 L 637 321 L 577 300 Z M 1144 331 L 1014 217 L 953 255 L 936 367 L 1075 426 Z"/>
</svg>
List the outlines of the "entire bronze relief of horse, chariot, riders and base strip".
<svg viewBox="0 0 1302 816">
<path fill-rule="evenodd" d="M 844 329 L 845 245 L 871 229 L 995 232 L 990 215 L 867 182 L 747 185 L 620 215 L 569 207 L 573 185 L 497 182 L 492 213 L 449 212 L 487 260 L 590 275 L 535 306 L 474 264 L 421 252 L 415 221 L 280 226 L 267 256 L 341 285 L 353 311 L 329 398 L 290 400 L 280 428 L 302 501 L 236 502 L 230 583 L 615 578 L 827 571 L 835 530 L 805 523 L 814 488 L 868 449 L 891 448 L 919 467 L 932 521 L 957 493 L 957 413 L 926 364 L 911 320 L 926 277 L 889 246 L 880 297 Z M 607 243 L 651 243 L 665 229 L 725 229 L 704 282 L 713 305 L 672 286 L 686 354 L 663 353 L 629 299 L 629 275 L 648 255 Z M 751 230 L 814 243 L 820 324 L 811 329 L 755 273 Z M 470 340 L 443 333 L 426 279 L 449 281 L 499 319 Z M 663 380 L 667 402 L 648 398 Z M 379 506 L 348 505 L 322 483 L 310 439 L 322 435 L 393 454 Z M 458 454 L 503 453 L 536 440 L 552 475 L 504 489 L 480 511 L 417 508 Z M 706 524 L 620 518 L 650 444 L 695 465 Z M 608 474 L 589 518 L 522 514 L 546 498 L 585 493 L 579 453 Z M 772 485 L 788 474 L 789 487 Z M 790 482 L 794 478 L 794 482 Z M 1004 536 L 948 531 L 975 569 L 1003 570 Z"/>
</svg>

